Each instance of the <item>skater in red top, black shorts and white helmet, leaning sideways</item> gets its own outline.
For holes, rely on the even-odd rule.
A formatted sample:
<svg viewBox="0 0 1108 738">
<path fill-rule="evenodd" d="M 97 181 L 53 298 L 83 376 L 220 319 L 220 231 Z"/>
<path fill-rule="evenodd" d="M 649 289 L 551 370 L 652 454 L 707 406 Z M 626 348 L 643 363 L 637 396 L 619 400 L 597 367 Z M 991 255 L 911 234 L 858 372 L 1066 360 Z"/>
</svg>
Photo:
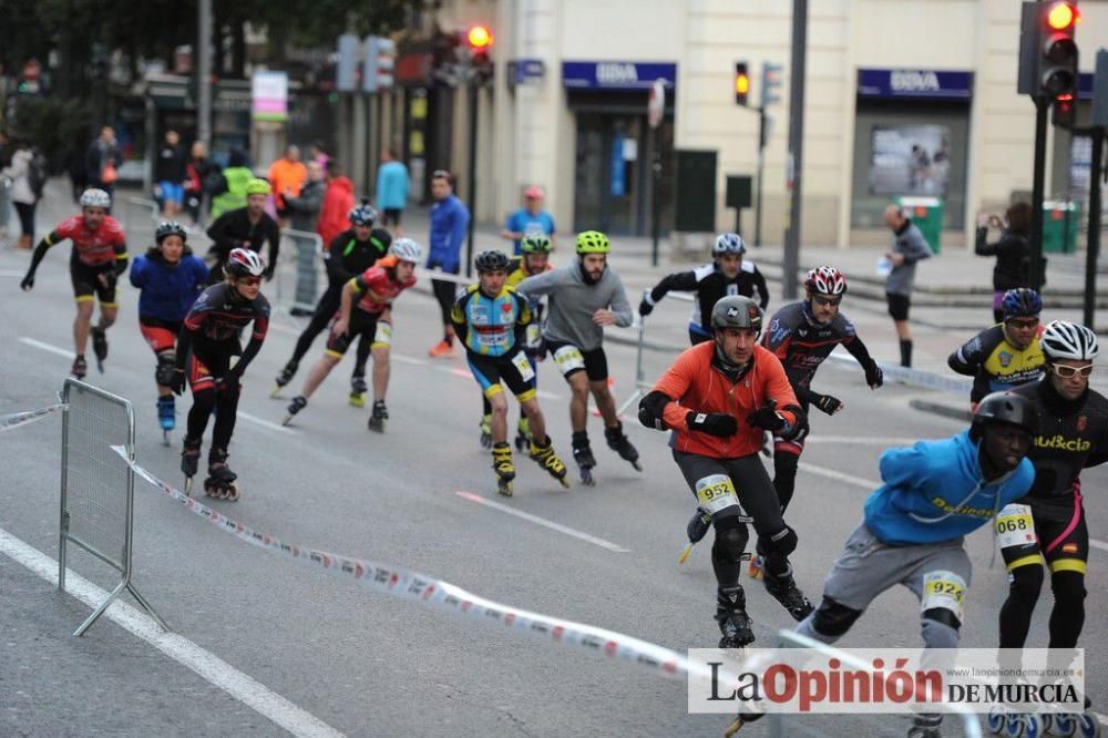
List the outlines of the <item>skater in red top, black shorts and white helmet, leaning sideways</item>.
<svg viewBox="0 0 1108 738">
<path fill-rule="evenodd" d="M 383 432 L 389 409 L 384 394 L 389 388 L 389 347 L 392 344 L 392 324 L 386 320 L 389 306 L 416 284 L 416 266 L 423 257 L 423 249 L 411 238 L 397 238 L 389 247 L 389 256 L 379 259 L 346 284 L 342 288 L 339 311 L 331 321 L 327 350 L 304 382 L 300 394 L 288 406 L 285 424 L 293 416 L 308 406 L 308 398 L 327 379 L 331 369 L 342 360 L 350 344 L 359 336 L 371 336 L 373 356 L 373 410 L 369 430 Z"/>
</svg>

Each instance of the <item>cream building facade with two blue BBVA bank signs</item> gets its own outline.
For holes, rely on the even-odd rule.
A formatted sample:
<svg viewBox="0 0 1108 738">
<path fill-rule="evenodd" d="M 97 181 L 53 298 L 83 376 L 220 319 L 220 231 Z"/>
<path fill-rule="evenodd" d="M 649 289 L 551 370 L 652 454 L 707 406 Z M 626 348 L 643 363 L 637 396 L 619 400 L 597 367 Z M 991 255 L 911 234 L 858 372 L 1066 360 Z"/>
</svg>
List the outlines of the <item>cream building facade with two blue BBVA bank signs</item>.
<svg viewBox="0 0 1108 738">
<path fill-rule="evenodd" d="M 649 233 L 650 162 L 663 163 L 664 228 L 673 223 L 675 151 L 716 152 L 716 228 L 735 225 L 728 175 L 753 175 L 759 116 L 736 104 L 745 61 L 757 105 L 763 64 L 783 68 L 763 160 L 763 242 L 788 216 L 791 6 L 786 0 L 448 0 L 442 29 L 493 29 L 494 84 L 480 95 L 476 214 L 500 221 L 529 185 L 547 192 L 563 232 Z M 810 245 L 883 243 L 893 197 L 944 204 L 957 247 L 979 211 L 1030 191 L 1034 106 L 1016 93 L 1015 0 L 811 0 L 806 75 L 801 233 Z M 1078 123 L 1088 120 L 1096 49 L 1108 6 L 1086 2 Z M 661 79 L 666 112 L 647 125 Z M 453 168 L 468 167 L 465 96 L 454 94 Z M 440 105 L 440 111 L 442 111 Z M 444 112 L 444 111 L 442 111 Z M 1051 129 L 1047 198 L 1084 198 L 1087 140 Z M 1084 156 L 1084 158 L 1083 158 Z M 1083 180 L 1084 171 L 1084 180 Z M 460 178 L 464 183 L 465 177 Z M 465 197 L 464 186 L 460 194 Z M 743 221 L 749 234 L 752 218 Z"/>
</svg>

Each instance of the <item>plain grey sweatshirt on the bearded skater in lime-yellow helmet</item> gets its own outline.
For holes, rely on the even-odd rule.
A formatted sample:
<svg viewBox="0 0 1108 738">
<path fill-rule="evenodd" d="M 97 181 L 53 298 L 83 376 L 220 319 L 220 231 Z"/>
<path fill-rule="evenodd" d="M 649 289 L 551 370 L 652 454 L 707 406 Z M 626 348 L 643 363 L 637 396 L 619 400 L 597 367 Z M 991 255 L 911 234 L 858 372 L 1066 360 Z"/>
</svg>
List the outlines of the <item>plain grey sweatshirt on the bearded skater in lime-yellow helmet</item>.
<svg viewBox="0 0 1108 738">
<path fill-rule="evenodd" d="M 598 349 L 604 344 L 604 329 L 593 322 L 593 314 L 597 310 L 612 310 L 617 326 L 626 327 L 634 320 L 627 293 L 611 266 L 595 285 L 585 284 L 581 267 L 575 263 L 527 277 L 516 289 L 531 299 L 550 295 L 543 338 L 573 344 L 582 351 Z"/>
</svg>

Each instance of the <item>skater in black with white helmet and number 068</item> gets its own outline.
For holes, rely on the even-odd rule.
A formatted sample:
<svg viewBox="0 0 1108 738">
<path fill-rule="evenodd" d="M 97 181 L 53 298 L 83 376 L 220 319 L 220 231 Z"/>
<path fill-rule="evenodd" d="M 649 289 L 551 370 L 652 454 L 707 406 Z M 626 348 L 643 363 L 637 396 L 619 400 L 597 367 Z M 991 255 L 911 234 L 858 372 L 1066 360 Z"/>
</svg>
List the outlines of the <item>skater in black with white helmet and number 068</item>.
<svg viewBox="0 0 1108 738">
<path fill-rule="evenodd" d="M 1001 608 L 999 645 L 1024 647 L 1046 578 L 1045 564 L 1054 594 L 1048 646 L 1071 649 L 1077 647 L 1085 626 L 1089 561 L 1089 529 L 1079 474 L 1083 469 L 1108 461 L 1108 400 L 1089 387 L 1099 353 L 1096 334 L 1085 326 L 1055 320 L 1043 331 L 1039 346 L 1046 361 L 1045 376 L 1010 391 L 1032 406 L 1039 428 L 1027 453 L 1035 468 L 1035 483 L 1027 496 L 1006 506 L 997 521 L 997 542 L 1009 583 L 1008 597 Z M 1020 534 L 1027 534 L 1026 539 Z M 1086 699 L 1086 709 L 1089 706 Z M 1056 727 L 1065 724 L 1081 735 L 1096 735 L 1098 724 L 1089 714 L 1054 719 Z"/>
</svg>

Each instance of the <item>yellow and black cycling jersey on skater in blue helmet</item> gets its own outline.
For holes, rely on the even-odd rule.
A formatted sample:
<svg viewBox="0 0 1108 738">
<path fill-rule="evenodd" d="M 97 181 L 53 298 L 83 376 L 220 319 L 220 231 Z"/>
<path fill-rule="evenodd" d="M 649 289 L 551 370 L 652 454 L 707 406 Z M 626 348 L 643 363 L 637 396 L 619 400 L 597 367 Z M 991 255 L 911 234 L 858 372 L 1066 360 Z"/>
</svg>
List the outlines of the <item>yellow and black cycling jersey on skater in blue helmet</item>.
<svg viewBox="0 0 1108 738">
<path fill-rule="evenodd" d="M 951 369 L 974 378 L 970 392 L 972 403 L 981 402 L 989 392 L 1037 380 L 1045 371 L 1045 361 L 1038 336 L 1027 348 L 1017 349 L 1008 340 L 1004 324 L 977 334 L 946 359 Z"/>
</svg>

